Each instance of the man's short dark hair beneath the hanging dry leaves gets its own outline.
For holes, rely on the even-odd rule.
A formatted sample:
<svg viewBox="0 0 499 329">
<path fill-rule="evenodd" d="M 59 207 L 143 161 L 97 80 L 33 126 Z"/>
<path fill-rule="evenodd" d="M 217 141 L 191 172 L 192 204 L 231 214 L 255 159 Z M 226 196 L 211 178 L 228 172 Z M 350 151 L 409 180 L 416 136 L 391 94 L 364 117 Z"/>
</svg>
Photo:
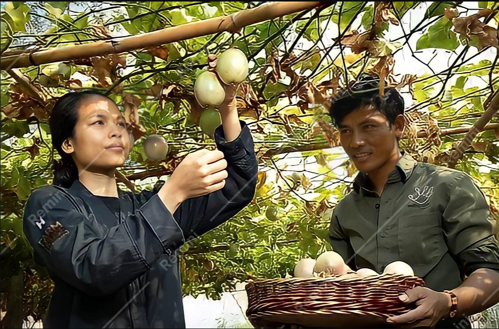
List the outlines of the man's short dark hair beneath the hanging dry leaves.
<svg viewBox="0 0 499 329">
<path fill-rule="evenodd" d="M 371 74 L 363 74 L 351 87 L 334 97 L 329 109 L 333 124 L 338 127 L 343 118 L 353 110 L 372 105 L 385 115 L 390 127 L 395 124 L 397 115 L 404 114 L 404 99 L 395 88 L 385 88 L 380 97 L 380 79 Z"/>
</svg>

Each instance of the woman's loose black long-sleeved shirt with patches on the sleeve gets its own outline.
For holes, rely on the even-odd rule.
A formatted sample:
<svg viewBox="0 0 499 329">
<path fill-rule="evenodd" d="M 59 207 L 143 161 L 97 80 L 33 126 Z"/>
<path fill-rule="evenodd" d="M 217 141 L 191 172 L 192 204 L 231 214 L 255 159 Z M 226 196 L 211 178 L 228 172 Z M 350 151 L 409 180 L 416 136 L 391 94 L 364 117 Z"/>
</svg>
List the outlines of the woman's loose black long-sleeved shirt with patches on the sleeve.
<svg viewBox="0 0 499 329">
<path fill-rule="evenodd" d="M 179 248 L 234 217 L 255 194 L 253 139 L 242 121 L 241 128 L 231 142 L 221 126 L 215 131 L 228 162 L 223 189 L 185 200 L 173 215 L 157 195 L 161 184 L 139 194 L 118 189 L 113 199 L 76 180 L 67 197 L 53 185 L 30 195 L 24 234 L 54 281 L 44 328 L 185 327 Z"/>
</svg>

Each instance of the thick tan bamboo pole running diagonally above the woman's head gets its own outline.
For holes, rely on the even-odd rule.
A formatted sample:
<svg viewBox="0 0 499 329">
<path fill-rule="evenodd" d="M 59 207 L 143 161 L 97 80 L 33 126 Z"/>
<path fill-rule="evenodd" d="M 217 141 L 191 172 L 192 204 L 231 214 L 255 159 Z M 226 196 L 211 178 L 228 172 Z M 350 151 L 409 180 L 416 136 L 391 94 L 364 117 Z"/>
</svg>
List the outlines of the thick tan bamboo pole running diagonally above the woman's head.
<svg viewBox="0 0 499 329">
<path fill-rule="evenodd" d="M 329 6 L 333 3 L 320 1 L 268 3 L 253 9 L 241 10 L 232 15 L 208 18 L 163 30 L 130 36 L 121 40 L 97 41 L 64 48 L 35 51 L 29 54 L 5 56 L 0 59 L 0 68 L 28 67 L 109 54 L 120 54 L 222 31 L 235 33 L 248 25 L 303 10 Z"/>
</svg>

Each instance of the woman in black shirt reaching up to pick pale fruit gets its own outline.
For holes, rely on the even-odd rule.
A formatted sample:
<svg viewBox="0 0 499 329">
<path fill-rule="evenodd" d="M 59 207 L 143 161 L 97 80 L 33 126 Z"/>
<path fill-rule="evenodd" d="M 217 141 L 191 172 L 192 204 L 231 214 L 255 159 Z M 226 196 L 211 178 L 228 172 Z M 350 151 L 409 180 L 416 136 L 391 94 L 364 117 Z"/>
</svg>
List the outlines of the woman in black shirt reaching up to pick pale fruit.
<svg viewBox="0 0 499 329">
<path fill-rule="evenodd" d="M 161 188 L 140 194 L 116 183 L 132 148 L 116 104 L 94 91 L 58 100 L 49 126 L 61 161 L 23 217 L 35 260 L 55 284 L 45 328 L 185 327 L 178 248 L 232 218 L 255 192 L 252 136 L 233 88 L 227 95 L 218 150 L 187 155 Z"/>
</svg>

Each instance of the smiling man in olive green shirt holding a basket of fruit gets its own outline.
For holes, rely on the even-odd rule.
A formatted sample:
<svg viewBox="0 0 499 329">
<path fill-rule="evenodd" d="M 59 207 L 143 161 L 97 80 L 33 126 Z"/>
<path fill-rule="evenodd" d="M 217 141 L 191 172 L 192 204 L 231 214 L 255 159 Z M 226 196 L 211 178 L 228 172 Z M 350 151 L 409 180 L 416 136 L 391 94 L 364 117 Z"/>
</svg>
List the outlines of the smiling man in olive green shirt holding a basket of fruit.
<svg viewBox="0 0 499 329">
<path fill-rule="evenodd" d="M 359 171 L 334 209 L 331 245 L 352 269 L 382 273 L 400 260 L 425 280 L 427 287 L 400 296 L 414 310 L 388 318 L 394 326 L 471 327 L 467 315 L 499 302 L 489 206 L 467 174 L 400 150 L 404 100 L 394 88 L 379 91 L 379 80 L 364 76 L 331 105 L 341 145 Z"/>
</svg>

